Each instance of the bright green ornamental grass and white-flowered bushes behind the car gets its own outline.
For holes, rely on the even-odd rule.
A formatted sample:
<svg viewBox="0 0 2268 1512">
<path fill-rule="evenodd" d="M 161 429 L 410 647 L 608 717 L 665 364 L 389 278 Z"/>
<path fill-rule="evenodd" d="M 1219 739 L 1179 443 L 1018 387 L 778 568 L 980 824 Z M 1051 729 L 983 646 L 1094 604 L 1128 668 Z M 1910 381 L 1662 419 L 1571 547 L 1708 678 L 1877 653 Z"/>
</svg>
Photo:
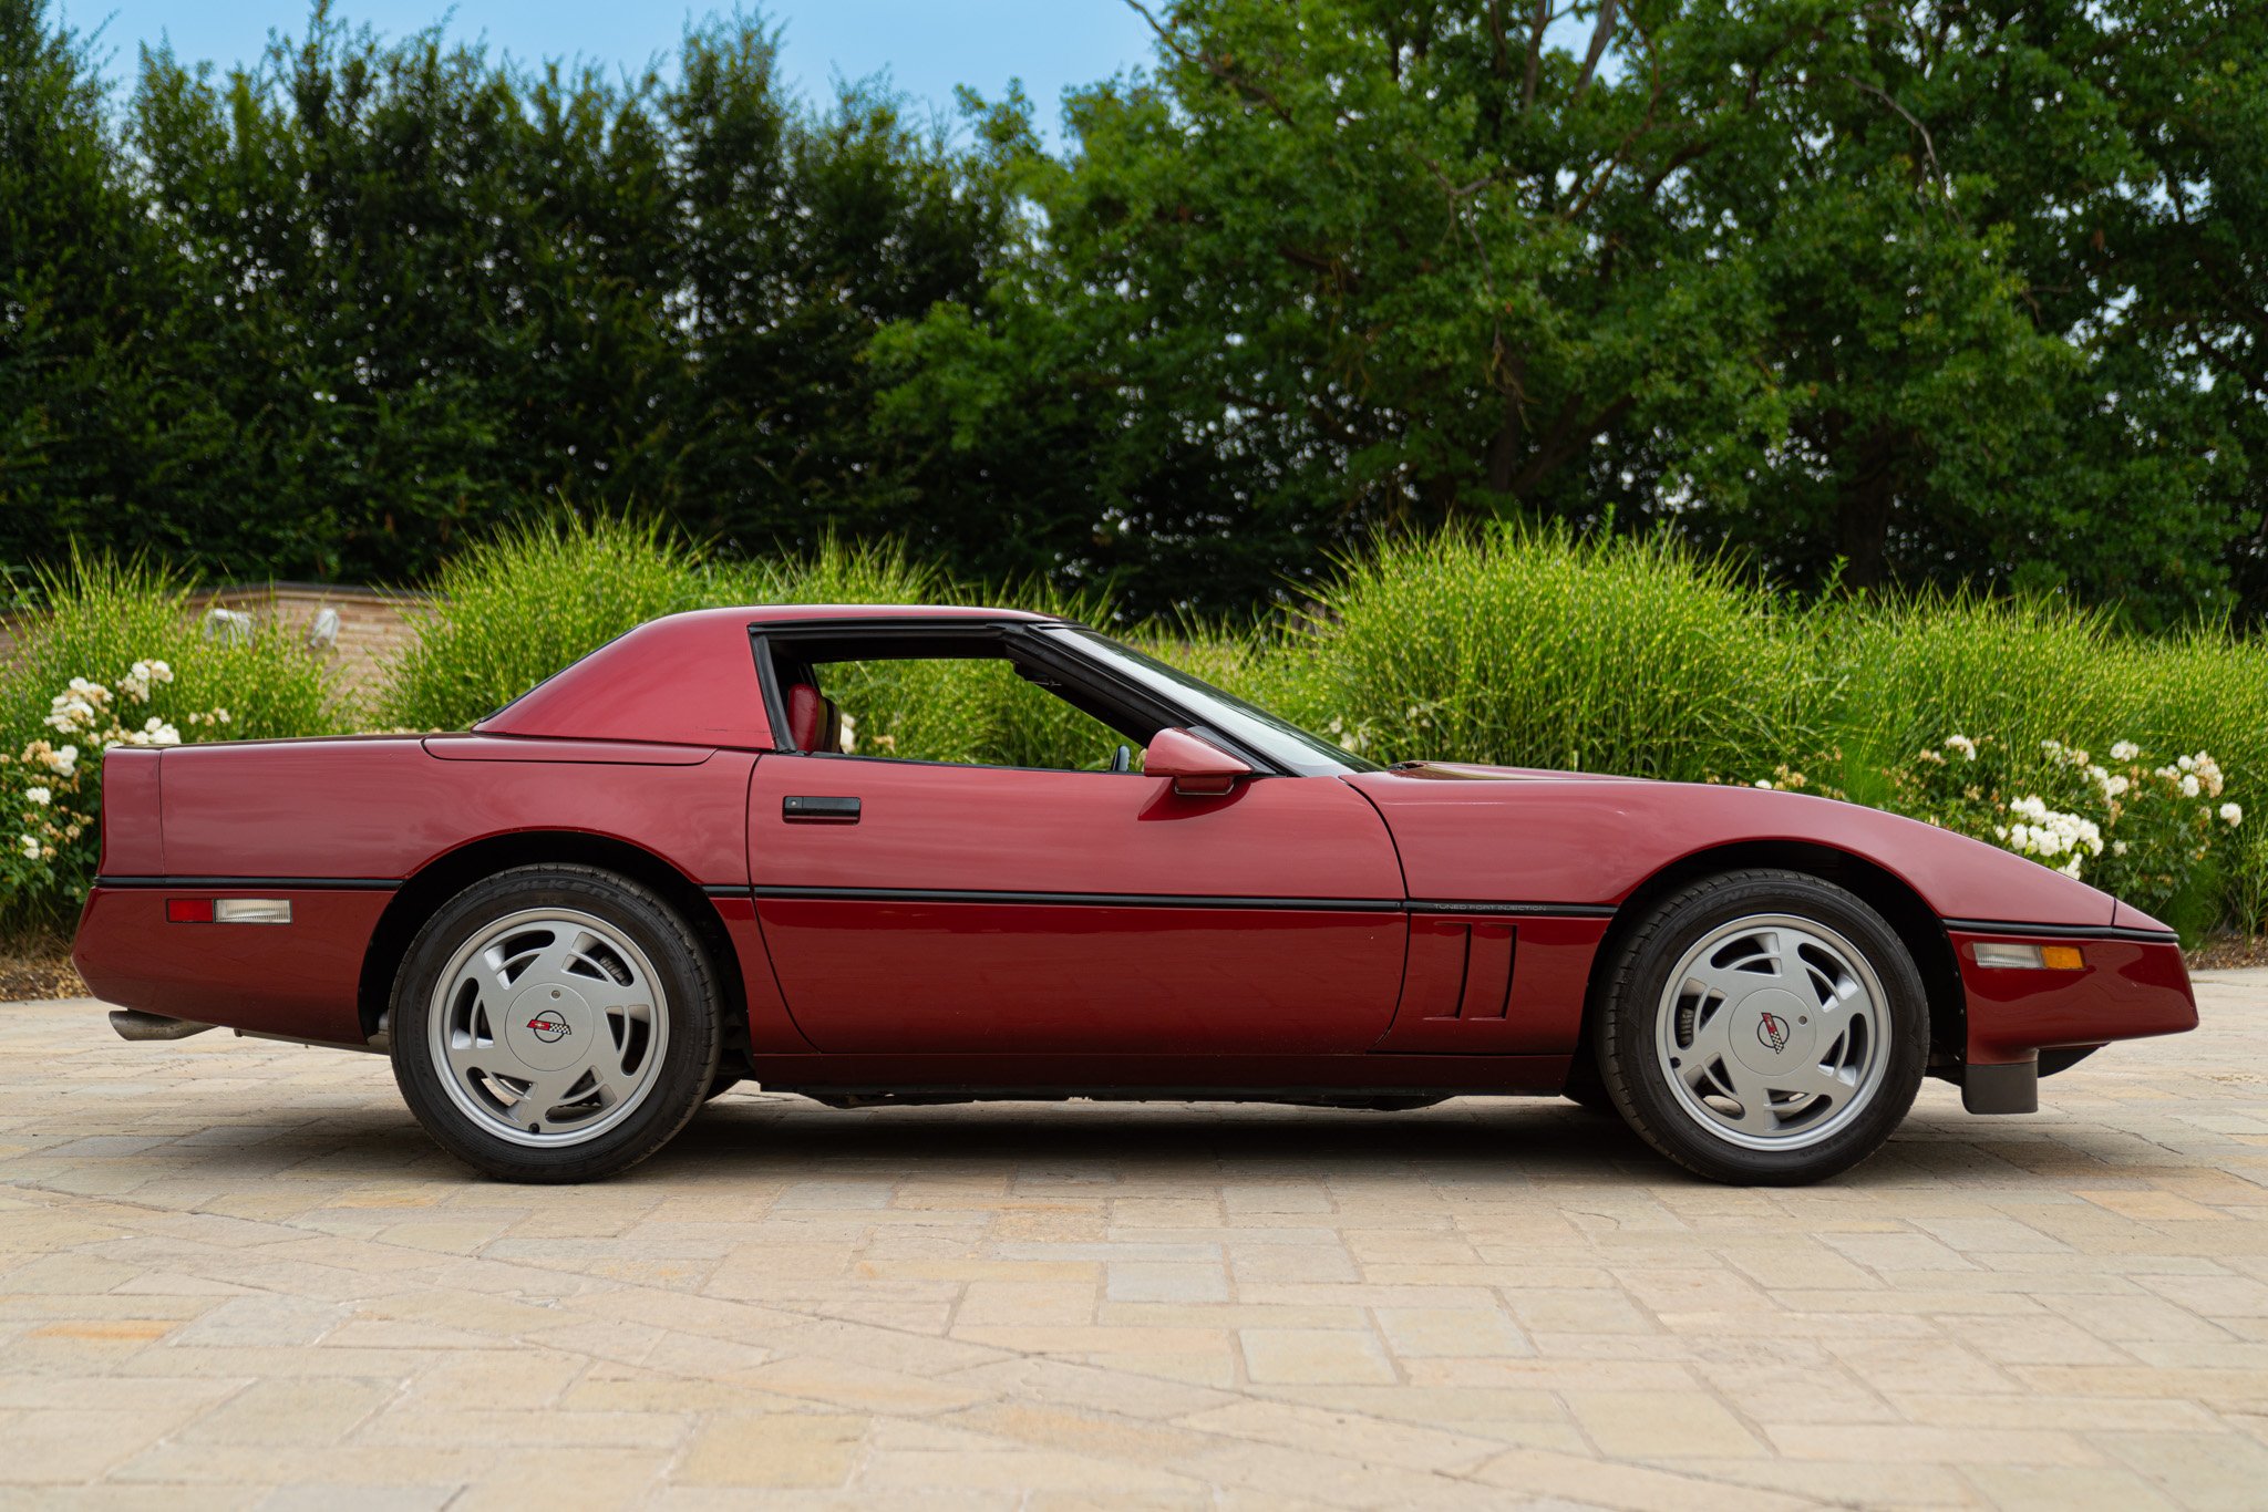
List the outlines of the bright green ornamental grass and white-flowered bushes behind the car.
<svg viewBox="0 0 2268 1512">
<path fill-rule="evenodd" d="M 161 574 L 82 562 L 54 578 L 52 608 L 0 669 L 0 737 L 25 757 L 0 762 L 0 816 L 23 825 L 0 832 L 0 925 L 61 918 L 84 884 L 91 836 L 50 830 L 93 793 L 61 791 L 52 750 L 77 739 L 88 773 L 95 723 L 125 739 L 463 728 L 644 619 L 717 603 L 991 598 L 1116 619 L 1048 589 L 973 592 L 898 549 L 746 560 L 615 519 L 510 530 L 451 562 L 442 587 L 376 694 L 349 703 L 288 637 L 204 639 Z M 1118 632 L 1374 759 L 1823 791 L 2075 868 L 2191 934 L 2268 923 L 2268 825 L 2236 823 L 2268 780 L 2268 646 L 2254 639 L 2130 637 L 1969 598 L 1799 608 L 1667 542 L 1517 530 L 1386 544 L 1266 632 Z M 887 737 L 866 750 L 1093 759 L 1077 721 L 1034 719 L 1027 685 L 982 671 L 932 664 L 835 691 L 864 741 Z M 91 700 L 84 716 L 73 698 Z M 23 834 L 54 855 L 25 855 Z"/>
</svg>

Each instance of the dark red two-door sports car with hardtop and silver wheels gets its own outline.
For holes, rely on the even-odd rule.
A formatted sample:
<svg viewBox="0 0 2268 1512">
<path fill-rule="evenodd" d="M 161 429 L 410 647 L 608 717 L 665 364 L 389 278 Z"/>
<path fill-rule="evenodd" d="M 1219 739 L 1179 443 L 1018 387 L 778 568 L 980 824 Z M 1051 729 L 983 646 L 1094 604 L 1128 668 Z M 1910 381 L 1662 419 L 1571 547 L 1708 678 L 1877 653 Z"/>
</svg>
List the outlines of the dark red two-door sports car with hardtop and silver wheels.
<svg viewBox="0 0 2268 1512">
<path fill-rule="evenodd" d="M 837 698 L 968 687 L 941 660 L 1086 764 L 914 759 L 880 712 L 853 741 Z M 75 959 L 127 1038 L 390 1054 L 517 1181 L 619 1172 L 739 1079 L 1567 1095 L 1706 1177 L 1814 1181 L 1923 1074 L 2025 1113 L 2198 1022 L 2170 929 L 1930 825 L 1377 768 L 1089 628 L 934 608 L 658 619 L 460 734 L 111 750 Z"/>
</svg>

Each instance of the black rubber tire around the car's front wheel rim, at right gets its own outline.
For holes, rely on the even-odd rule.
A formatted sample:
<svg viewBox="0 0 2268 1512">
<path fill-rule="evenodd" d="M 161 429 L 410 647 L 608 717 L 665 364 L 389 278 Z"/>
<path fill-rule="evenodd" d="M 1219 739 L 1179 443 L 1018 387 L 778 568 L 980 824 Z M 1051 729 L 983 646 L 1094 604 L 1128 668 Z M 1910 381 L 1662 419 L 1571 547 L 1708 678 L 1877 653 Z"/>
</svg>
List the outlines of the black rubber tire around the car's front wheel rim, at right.
<svg viewBox="0 0 2268 1512">
<path fill-rule="evenodd" d="M 1656 1040 L 1658 1022 L 1674 1011 L 1665 1004 L 1669 977 L 1687 952 L 1719 929 L 1765 916 L 1792 918 L 1839 936 L 1862 957 L 1882 995 L 1876 1016 L 1880 1038 L 1887 1040 L 1876 1050 L 1880 1077 L 1871 1093 L 1853 1097 L 1855 1106 L 1830 1131 L 1819 1133 L 1817 1143 L 1796 1147 L 1751 1147 L 1740 1143 L 1737 1133 L 1694 1113 L 1672 1086 L 1672 1072 Z M 1769 1018 L 1769 1009 L 1762 1013 Z M 1733 1031 L 1728 1025 L 1726 1034 Z M 1606 1095 L 1631 1129 L 1660 1154 L 1712 1181 L 1801 1186 L 1835 1177 L 1871 1156 L 1914 1106 L 1930 1052 L 1930 1006 L 1905 941 L 1857 895 L 1805 873 L 1733 870 L 1678 889 L 1619 941 L 1619 959 L 1606 977 L 1599 1002 L 1594 1050 Z M 1767 1050 L 1780 1054 L 1778 1045 Z"/>
</svg>

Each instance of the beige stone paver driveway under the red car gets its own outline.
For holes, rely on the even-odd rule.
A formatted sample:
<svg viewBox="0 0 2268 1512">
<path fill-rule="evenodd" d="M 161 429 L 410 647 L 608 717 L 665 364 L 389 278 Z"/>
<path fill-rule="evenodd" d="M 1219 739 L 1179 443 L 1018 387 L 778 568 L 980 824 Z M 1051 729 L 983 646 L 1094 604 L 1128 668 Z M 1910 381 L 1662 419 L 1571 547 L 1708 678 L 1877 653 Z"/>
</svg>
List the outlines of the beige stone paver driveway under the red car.
<svg viewBox="0 0 2268 1512">
<path fill-rule="evenodd" d="M 2200 997 L 1796 1192 L 1558 1102 L 755 1093 L 510 1188 L 376 1059 L 7 1006 L 0 1503 L 2257 1507 L 2268 972 Z"/>
</svg>

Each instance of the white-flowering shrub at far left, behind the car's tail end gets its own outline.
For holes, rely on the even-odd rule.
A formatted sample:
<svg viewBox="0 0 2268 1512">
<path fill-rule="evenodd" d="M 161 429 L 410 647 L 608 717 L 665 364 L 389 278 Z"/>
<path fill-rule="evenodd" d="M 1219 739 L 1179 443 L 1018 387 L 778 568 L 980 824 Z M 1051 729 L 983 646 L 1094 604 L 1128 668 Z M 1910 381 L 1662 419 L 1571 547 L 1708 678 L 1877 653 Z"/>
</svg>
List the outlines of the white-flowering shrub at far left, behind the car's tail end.
<svg viewBox="0 0 2268 1512">
<path fill-rule="evenodd" d="M 93 875 L 100 850 L 102 753 L 113 746 L 179 746 L 191 734 L 220 734 L 229 710 L 193 710 L 179 723 L 166 716 L 172 666 L 156 657 L 134 662 L 116 691 L 73 678 L 48 703 L 41 721 L 52 734 L 0 759 L 0 823 L 14 834 L 0 850 L 0 904 L 25 893 L 79 886 Z M 145 710 L 150 710 L 145 714 Z"/>
</svg>

